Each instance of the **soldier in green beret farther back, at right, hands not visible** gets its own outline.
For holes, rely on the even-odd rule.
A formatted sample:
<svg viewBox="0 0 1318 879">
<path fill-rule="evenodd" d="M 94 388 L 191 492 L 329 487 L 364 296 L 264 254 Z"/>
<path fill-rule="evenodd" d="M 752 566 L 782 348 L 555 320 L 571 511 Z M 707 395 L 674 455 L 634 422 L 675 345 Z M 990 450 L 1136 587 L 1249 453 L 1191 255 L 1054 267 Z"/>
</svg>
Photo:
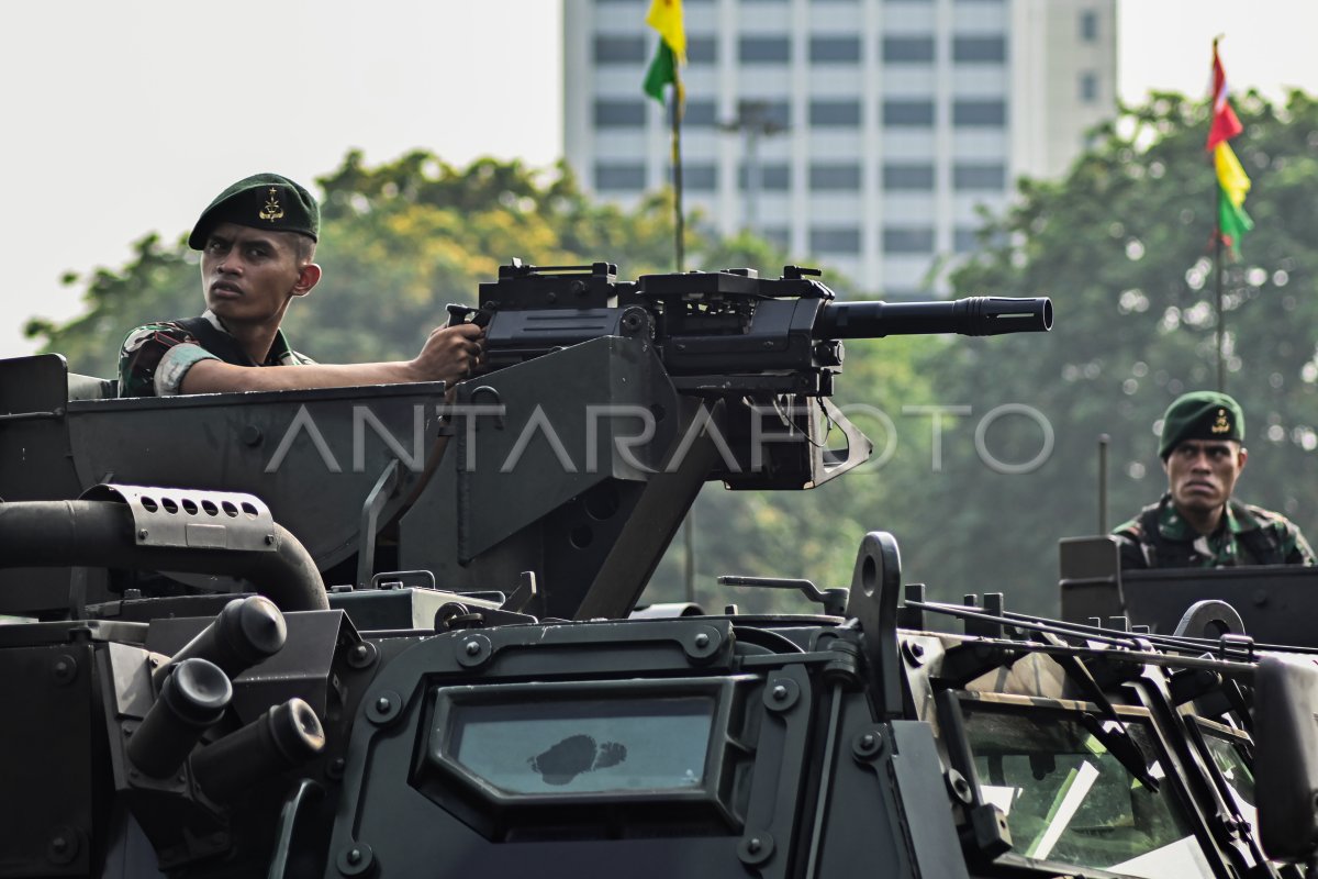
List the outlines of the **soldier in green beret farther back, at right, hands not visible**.
<svg viewBox="0 0 1318 879">
<path fill-rule="evenodd" d="M 1249 456 L 1243 441 L 1244 412 L 1226 394 L 1184 394 L 1168 407 L 1159 441 L 1168 492 L 1114 531 L 1122 568 L 1314 564 L 1286 517 L 1231 497 Z"/>
</svg>

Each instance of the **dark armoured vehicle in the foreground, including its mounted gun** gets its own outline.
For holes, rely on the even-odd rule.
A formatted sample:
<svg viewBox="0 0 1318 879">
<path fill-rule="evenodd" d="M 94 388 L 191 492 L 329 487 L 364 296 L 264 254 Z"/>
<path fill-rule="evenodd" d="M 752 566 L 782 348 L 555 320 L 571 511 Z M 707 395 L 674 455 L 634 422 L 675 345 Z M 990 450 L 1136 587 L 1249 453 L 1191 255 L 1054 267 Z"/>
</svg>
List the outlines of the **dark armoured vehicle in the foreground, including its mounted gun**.
<svg viewBox="0 0 1318 879">
<path fill-rule="evenodd" d="M 801 613 L 637 609 L 705 481 L 865 460 L 841 340 L 1046 300 L 513 264 L 455 319 L 452 389 L 0 362 L 0 876 L 1301 875 L 1318 671 L 1211 613 L 936 604 L 878 531 Z"/>
</svg>

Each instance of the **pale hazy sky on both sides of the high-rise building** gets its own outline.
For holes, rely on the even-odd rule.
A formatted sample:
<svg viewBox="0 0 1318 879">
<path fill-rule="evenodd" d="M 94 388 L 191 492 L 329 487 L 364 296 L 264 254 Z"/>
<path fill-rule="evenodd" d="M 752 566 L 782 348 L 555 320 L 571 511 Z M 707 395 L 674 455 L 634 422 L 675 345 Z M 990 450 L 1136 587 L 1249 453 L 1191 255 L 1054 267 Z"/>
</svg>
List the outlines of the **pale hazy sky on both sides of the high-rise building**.
<svg viewBox="0 0 1318 879">
<path fill-rule="evenodd" d="M 28 318 L 79 310 L 65 271 L 178 236 L 246 174 L 310 183 L 349 148 L 457 165 L 561 153 L 558 0 L 46 0 L 3 14 L 0 357 L 34 349 Z M 1126 100 L 1202 94 L 1214 34 L 1234 88 L 1318 91 L 1307 0 L 1118 0 L 1118 18 Z"/>
</svg>

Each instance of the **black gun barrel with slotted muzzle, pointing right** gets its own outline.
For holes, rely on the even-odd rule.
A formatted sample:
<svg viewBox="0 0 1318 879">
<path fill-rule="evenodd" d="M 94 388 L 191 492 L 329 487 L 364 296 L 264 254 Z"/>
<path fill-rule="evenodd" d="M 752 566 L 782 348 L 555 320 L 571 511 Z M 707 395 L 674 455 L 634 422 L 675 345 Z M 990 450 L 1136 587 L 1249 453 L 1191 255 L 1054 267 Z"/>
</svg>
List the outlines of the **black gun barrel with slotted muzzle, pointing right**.
<svg viewBox="0 0 1318 879">
<path fill-rule="evenodd" d="M 1053 303 L 1046 297 L 969 297 L 956 302 L 830 302 L 815 322 L 816 339 L 879 339 L 956 332 L 996 336 L 1048 332 Z"/>
</svg>

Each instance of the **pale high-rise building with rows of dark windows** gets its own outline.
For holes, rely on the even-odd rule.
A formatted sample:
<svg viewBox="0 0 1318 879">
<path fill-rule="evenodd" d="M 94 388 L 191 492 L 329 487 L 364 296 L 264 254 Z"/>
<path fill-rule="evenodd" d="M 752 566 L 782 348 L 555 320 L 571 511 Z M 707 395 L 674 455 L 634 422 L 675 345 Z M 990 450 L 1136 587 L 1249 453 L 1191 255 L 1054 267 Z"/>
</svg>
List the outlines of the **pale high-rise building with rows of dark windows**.
<svg viewBox="0 0 1318 879">
<path fill-rule="evenodd" d="M 564 153 L 587 190 L 623 204 L 671 182 L 667 112 L 642 92 L 648 7 L 564 8 Z M 1115 0 L 683 8 L 685 206 L 890 299 L 944 293 L 979 206 L 1064 173 L 1116 105 Z"/>
</svg>

